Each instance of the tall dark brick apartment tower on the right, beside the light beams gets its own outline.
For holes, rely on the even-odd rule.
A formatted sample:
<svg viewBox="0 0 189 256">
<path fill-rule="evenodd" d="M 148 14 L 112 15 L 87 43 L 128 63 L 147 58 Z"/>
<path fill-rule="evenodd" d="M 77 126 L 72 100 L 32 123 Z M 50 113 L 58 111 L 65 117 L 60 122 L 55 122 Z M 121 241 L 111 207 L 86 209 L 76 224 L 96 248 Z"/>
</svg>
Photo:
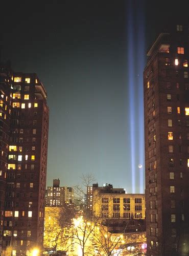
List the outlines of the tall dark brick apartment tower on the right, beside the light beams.
<svg viewBox="0 0 189 256">
<path fill-rule="evenodd" d="M 188 26 L 159 34 L 144 70 L 147 255 L 189 253 Z"/>
</svg>

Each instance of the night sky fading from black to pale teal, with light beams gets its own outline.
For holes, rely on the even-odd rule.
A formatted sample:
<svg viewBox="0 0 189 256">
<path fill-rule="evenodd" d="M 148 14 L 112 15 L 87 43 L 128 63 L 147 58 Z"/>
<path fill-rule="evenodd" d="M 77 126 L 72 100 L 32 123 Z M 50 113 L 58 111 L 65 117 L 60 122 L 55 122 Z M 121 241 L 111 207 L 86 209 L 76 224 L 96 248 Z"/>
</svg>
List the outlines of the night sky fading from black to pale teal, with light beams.
<svg viewBox="0 0 189 256">
<path fill-rule="evenodd" d="M 37 73 L 48 92 L 47 185 L 74 186 L 90 173 L 144 192 L 146 50 L 162 28 L 189 20 L 189 2 L 38 2 L 1 3 L 0 45 L 3 61 Z"/>
</svg>

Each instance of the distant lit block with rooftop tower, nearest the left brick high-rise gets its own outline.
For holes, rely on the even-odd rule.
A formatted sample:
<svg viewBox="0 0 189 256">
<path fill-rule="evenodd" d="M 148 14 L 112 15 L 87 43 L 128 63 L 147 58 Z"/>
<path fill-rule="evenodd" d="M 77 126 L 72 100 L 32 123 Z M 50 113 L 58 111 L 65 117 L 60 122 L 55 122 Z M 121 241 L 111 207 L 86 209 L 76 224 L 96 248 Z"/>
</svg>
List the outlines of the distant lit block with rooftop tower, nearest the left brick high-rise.
<svg viewBox="0 0 189 256">
<path fill-rule="evenodd" d="M 65 206 L 65 187 L 60 187 L 60 180 L 53 180 L 53 186 L 46 189 L 46 206 Z"/>
</svg>

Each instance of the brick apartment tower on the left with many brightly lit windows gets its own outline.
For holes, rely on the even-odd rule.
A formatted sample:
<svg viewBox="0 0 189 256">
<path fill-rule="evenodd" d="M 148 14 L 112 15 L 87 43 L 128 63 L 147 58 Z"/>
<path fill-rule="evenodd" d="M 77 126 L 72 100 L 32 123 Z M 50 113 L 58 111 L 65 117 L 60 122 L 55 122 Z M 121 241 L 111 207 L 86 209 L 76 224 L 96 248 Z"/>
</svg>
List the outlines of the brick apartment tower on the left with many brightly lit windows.
<svg viewBox="0 0 189 256">
<path fill-rule="evenodd" d="M 2 255 L 43 246 L 49 109 L 36 74 L 0 68 Z M 1 245 L 0 245 L 1 246 Z"/>
</svg>

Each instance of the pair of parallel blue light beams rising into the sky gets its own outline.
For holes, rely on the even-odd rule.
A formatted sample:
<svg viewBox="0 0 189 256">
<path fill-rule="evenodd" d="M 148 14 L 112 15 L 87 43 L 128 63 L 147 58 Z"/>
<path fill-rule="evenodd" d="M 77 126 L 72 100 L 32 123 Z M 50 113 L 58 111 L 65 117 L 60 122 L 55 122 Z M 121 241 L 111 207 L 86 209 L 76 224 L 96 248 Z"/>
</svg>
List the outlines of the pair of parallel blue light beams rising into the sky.
<svg viewBox="0 0 189 256">
<path fill-rule="evenodd" d="M 144 193 L 144 5 L 144 1 L 139 1 L 136 8 L 132 0 L 129 0 L 127 5 L 127 63 L 132 193 L 135 193 L 136 189 L 137 193 Z M 138 168 L 140 165 L 143 167 Z"/>
</svg>

